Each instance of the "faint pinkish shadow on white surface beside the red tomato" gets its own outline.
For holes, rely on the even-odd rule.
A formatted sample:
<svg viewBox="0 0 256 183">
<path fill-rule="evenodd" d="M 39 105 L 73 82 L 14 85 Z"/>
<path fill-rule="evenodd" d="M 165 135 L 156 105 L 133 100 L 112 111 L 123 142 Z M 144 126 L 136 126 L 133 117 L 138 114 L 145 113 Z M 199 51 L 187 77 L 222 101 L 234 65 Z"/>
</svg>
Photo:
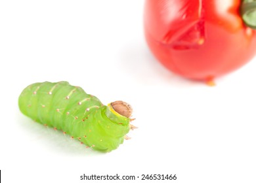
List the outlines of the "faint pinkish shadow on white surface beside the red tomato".
<svg viewBox="0 0 256 183">
<path fill-rule="evenodd" d="M 166 84 L 192 86 L 196 82 L 186 80 L 165 69 L 148 50 L 146 44 L 128 45 L 119 54 L 121 68 L 141 84 Z"/>
</svg>

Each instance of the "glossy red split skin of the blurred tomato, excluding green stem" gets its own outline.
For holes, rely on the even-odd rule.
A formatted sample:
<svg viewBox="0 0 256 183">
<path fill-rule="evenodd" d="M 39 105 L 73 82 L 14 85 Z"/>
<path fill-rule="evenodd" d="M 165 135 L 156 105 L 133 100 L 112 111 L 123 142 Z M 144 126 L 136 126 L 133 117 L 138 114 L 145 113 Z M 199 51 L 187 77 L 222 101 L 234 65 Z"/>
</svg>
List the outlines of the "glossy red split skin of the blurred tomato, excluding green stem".
<svg viewBox="0 0 256 183">
<path fill-rule="evenodd" d="M 256 54 L 256 31 L 246 27 L 238 0 L 146 0 L 144 31 L 167 69 L 209 80 L 242 67 Z"/>
</svg>

